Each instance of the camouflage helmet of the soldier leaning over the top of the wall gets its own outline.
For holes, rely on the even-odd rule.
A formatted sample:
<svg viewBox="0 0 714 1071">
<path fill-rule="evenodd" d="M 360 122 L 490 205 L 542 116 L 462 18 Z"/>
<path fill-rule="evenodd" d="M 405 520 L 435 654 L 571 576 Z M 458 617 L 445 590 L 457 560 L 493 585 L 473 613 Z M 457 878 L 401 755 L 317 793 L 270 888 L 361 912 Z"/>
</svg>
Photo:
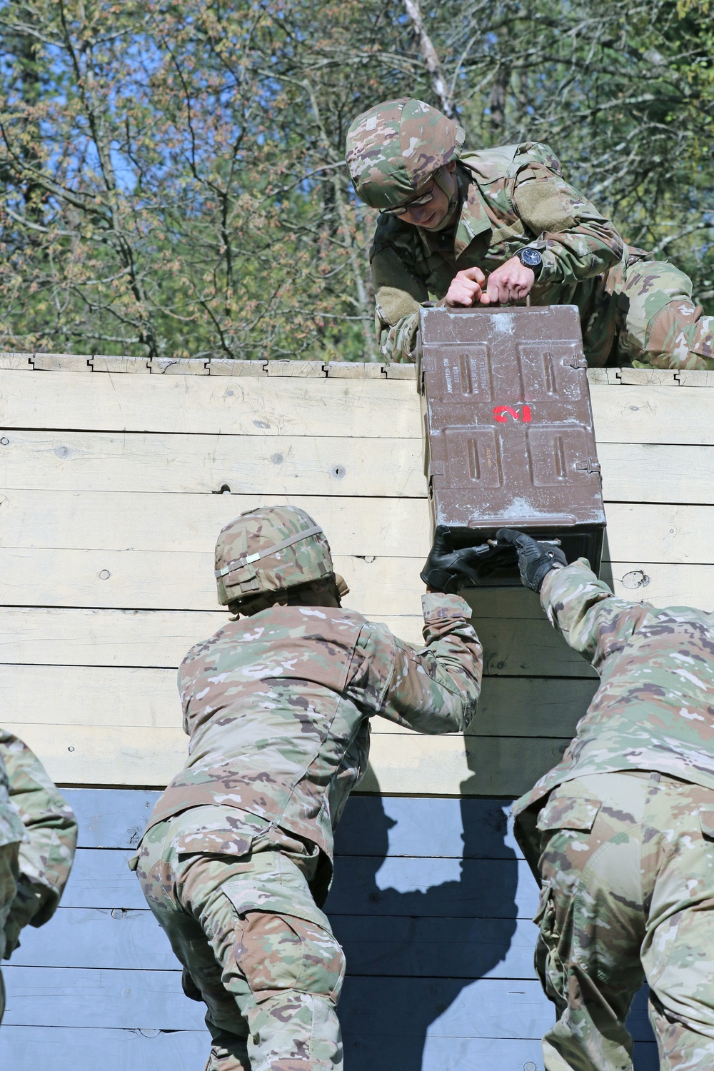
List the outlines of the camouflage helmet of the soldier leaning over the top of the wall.
<svg viewBox="0 0 714 1071">
<path fill-rule="evenodd" d="M 423 101 L 385 101 L 358 116 L 347 132 L 352 185 L 370 208 L 398 208 L 452 160 L 466 135 Z"/>
</svg>

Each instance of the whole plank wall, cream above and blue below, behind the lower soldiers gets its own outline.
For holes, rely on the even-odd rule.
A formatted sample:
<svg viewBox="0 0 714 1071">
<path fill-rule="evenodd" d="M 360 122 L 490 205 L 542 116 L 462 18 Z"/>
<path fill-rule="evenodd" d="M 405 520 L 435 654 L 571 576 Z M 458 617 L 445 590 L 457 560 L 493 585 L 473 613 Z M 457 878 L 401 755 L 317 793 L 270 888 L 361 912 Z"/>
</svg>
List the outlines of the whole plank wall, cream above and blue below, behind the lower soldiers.
<svg viewBox="0 0 714 1071">
<path fill-rule="evenodd" d="M 710 375 L 590 379 L 604 575 L 627 598 L 711 606 Z M 198 1006 L 123 860 L 147 790 L 183 763 L 176 667 L 225 620 L 215 536 L 260 502 L 304 506 L 346 603 L 417 643 L 429 532 L 413 369 L 4 355 L 0 424 L 3 721 L 74 786 L 82 823 L 62 907 L 3 968 L 0 1058 L 199 1071 Z M 542 1066 L 535 885 L 504 801 L 560 757 L 596 681 L 529 592 L 474 593 L 473 606 L 476 724 L 436 739 L 375 725 L 366 795 L 340 829 L 329 907 L 350 963 L 354 1069 Z M 644 1071 L 656 1058 L 638 1014 Z"/>
</svg>

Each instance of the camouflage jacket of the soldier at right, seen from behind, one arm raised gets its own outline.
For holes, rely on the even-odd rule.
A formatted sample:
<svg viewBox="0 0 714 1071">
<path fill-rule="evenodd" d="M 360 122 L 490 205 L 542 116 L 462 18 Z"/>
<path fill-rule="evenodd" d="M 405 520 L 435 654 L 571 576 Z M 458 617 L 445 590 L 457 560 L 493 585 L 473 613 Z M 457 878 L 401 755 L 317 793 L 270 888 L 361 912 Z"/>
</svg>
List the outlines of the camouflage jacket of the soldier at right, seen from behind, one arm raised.
<svg viewBox="0 0 714 1071">
<path fill-rule="evenodd" d="M 654 770 L 714 789 L 714 615 L 617 599 L 584 558 L 548 573 L 541 602 L 602 683 L 563 760 L 516 814 L 588 773 Z"/>
</svg>

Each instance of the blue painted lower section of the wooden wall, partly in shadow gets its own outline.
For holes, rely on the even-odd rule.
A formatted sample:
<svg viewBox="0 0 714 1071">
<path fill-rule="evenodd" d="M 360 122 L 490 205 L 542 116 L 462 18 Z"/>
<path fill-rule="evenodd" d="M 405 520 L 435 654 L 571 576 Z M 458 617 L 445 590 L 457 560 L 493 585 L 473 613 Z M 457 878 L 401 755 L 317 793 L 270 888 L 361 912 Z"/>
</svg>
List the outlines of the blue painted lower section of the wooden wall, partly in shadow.
<svg viewBox="0 0 714 1071">
<path fill-rule="evenodd" d="M 126 868 L 156 793 L 72 789 L 80 849 L 63 904 L 3 966 L 0 1066 L 201 1071 L 201 1006 Z M 328 911 L 345 947 L 348 1071 L 542 1071 L 552 1008 L 532 959 L 537 889 L 507 803 L 354 797 Z M 636 1071 L 657 1057 L 644 995 Z"/>
</svg>

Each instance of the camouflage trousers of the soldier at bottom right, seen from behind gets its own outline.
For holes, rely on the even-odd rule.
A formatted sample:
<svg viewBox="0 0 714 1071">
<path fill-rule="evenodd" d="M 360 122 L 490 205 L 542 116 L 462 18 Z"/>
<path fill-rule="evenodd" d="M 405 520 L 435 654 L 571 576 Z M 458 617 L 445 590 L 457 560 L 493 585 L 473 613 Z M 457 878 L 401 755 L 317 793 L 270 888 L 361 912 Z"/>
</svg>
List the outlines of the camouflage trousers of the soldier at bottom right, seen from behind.
<svg viewBox="0 0 714 1071">
<path fill-rule="evenodd" d="M 553 789 L 533 818 L 516 832 L 541 853 L 535 967 L 558 1012 L 546 1071 L 631 1071 L 624 1022 L 644 979 L 662 1071 L 711 1071 L 714 791 L 599 773 Z"/>
</svg>

